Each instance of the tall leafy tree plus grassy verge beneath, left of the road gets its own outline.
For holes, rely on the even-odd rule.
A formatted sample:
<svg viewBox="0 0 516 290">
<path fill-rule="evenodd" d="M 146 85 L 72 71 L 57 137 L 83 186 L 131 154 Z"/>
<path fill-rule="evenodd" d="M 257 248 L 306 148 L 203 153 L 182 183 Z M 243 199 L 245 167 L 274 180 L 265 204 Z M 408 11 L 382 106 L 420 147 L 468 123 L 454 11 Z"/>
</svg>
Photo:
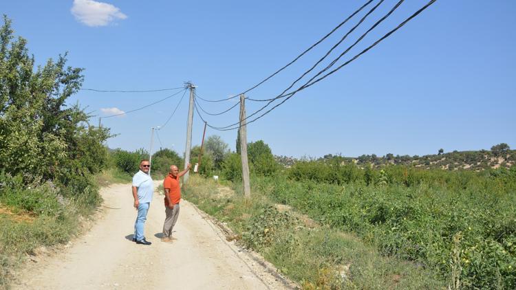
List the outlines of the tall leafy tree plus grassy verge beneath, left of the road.
<svg viewBox="0 0 516 290">
<path fill-rule="evenodd" d="M 98 205 L 94 175 L 107 165 L 109 129 L 67 99 L 83 82 L 66 55 L 34 67 L 10 20 L 0 28 L 0 286 L 21 255 L 66 241 Z M 19 220 L 19 216 L 29 219 Z M 56 232 L 59 231 L 59 232 Z M 17 245 L 12 247 L 12 245 Z"/>
</svg>

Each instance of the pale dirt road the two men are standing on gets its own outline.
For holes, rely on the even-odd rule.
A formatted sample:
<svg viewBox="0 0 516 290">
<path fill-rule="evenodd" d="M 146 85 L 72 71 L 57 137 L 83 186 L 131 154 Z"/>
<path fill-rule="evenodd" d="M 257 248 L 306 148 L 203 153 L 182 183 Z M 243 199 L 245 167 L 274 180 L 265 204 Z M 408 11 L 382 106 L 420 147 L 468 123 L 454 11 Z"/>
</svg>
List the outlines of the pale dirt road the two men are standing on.
<svg viewBox="0 0 516 290">
<path fill-rule="evenodd" d="M 28 262 L 14 289 L 288 289 L 187 201 L 174 227 L 178 241 L 163 243 L 163 195 L 155 192 L 145 225 L 152 242 L 147 246 L 131 241 L 136 210 L 130 185 L 103 188 L 101 194 L 104 206 L 91 230 L 63 251 Z"/>
</svg>

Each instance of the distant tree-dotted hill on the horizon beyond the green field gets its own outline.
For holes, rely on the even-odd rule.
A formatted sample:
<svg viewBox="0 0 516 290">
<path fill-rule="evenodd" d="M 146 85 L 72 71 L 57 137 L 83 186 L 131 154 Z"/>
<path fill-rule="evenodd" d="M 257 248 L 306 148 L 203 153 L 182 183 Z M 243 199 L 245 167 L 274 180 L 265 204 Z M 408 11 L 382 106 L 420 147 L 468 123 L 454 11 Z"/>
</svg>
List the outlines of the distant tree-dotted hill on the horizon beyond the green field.
<svg viewBox="0 0 516 290">
<path fill-rule="evenodd" d="M 290 167 L 299 159 L 286 156 L 275 156 L 276 161 L 283 166 Z M 341 159 L 343 163 L 354 162 L 357 166 L 363 167 L 367 164 L 373 166 L 385 166 L 387 164 L 402 164 L 419 168 L 440 168 L 444 170 L 484 170 L 486 168 L 510 168 L 516 164 L 516 150 L 510 150 L 505 143 L 491 147 L 491 150 L 477 151 L 453 151 L 444 153 L 440 149 L 434 155 L 393 155 L 385 156 L 361 155 L 359 157 L 342 157 L 340 155 L 327 154 L 317 159 L 319 161 L 330 161 Z"/>
</svg>

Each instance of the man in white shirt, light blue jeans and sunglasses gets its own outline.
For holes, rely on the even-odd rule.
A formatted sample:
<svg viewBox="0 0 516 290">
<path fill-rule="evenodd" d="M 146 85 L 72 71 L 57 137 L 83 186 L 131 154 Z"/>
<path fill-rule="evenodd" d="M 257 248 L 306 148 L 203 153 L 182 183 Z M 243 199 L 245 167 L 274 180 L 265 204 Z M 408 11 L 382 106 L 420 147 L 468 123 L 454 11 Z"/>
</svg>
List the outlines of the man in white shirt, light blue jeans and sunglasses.
<svg viewBox="0 0 516 290">
<path fill-rule="evenodd" d="M 150 166 L 149 160 L 143 159 L 140 161 L 140 170 L 133 176 L 134 207 L 138 210 L 138 216 L 134 223 L 133 241 L 139 245 L 151 245 L 151 242 L 145 240 L 144 236 L 144 224 L 153 194 L 153 182 L 149 175 Z"/>
</svg>

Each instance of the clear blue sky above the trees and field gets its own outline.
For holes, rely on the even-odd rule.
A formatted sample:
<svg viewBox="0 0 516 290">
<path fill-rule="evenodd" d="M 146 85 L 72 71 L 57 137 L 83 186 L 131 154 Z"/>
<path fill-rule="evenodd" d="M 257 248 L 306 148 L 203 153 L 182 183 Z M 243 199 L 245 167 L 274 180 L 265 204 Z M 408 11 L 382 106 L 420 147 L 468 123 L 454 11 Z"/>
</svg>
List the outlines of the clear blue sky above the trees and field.
<svg viewBox="0 0 516 290">
<path fill-rule="evenodd" d="M 396 2 L 385 0 L 329 59 Z M 68 65 L 85 68 L 84 88 L 164 89 L 191 81 L 200 97 L 214 100 L 240 93 L 286 65 L 363 3 L 7 0 L 0 12 L 28 40 L 38 63 L 68 52 Z M 402 3 L 337 65 L 425 3 Z M 501 142 L 516 148 L 515 14 L 512 0 L 438 0 L 367 54 L 249 124 L 248 141 L 264 140 L 276 155 L 294 157 L 425 155 L 439 148 L 488 149 Z M 246 96 L 277 96 L 350 30 L 358 16 Z M 87 107 L 95 115 L 92 123 L 98 124 L 98 117 L 137 109 L 172 93 L 80 91 L 69 102 Z M 118 134 L 107 142 L 109 147 L 149 150 L 151 127 L 164 124 L 181 96 L 103 120 Z M 235 104 L 199 101 L 214 113 Z M 246 102 L 248 115 L 261 105 Z M 184 152 L 187 111 L 188 93 L 160 129 L 155 148 Z M 213 126 L 233 124 L 238 107 L 204 118 Z M 200 144 L 202 129 L 195 113 L 193 144 Z M 219 135 L 235 148 L 236 131 L 208 128 L 206 135 Z"/>
</svg>

